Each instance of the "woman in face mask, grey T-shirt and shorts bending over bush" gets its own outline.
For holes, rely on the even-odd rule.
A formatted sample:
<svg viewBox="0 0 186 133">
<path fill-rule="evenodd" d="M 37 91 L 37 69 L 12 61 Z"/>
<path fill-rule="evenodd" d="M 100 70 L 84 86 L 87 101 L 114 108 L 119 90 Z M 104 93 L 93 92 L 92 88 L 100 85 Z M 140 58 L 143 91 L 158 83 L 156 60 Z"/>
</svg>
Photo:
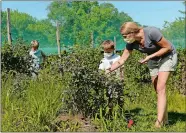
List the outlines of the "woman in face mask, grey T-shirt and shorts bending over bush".
<svg viewBox="0 0 186 133">
<path fill-rule="evenodd" d="M 119 61 L 115 62 L 106 73 L 119 68 L 128 59 L 133 49 L 147 53 L 140 63 L 148 63 L 152 83 L 157 93 L 157 120 L 155 127 L 160 128 L 168 122 L 166 82 L 177 64 L 177 53 L 173 44 L 166 40 L 155 27 L 138 27 L 134 22 L 126 22 L 120 32 L 127 42 Z"/>
</svg>

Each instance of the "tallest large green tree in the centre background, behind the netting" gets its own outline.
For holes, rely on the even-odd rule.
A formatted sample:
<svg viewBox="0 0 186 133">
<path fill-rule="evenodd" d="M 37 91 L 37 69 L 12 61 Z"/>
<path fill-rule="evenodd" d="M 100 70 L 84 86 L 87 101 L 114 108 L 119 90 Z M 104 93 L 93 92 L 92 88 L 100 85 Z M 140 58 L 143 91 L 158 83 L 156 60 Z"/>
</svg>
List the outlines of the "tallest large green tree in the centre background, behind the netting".
<svg viewBox="0 0 186 133">
<path fill-rule="evenodd" d="M 48 6 L 48 18 L 60 22 L 61 42 L 66 45 L 89 45 L 93 32 L 94 42 L 120 38 L 120 26 L 133 21 L 126 13 L 119 13 L 110 3 L 97 1 L 55 1 Z M 123 42 L 123 41 L 122 41 Z"/>
</svg>

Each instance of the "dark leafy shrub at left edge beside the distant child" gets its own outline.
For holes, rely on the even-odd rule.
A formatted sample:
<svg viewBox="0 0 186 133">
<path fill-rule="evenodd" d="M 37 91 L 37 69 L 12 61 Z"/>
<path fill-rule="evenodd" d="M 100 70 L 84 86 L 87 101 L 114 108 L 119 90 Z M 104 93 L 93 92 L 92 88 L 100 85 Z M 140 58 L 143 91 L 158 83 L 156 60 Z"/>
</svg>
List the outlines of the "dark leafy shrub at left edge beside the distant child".
<svg viewBox="0 0 186 133">
<path fill-rule="evenodd" d="M 1 49 L 1 68 L 4 73 L 14 71 L 15 73 L 30 74 L 29 68 L 31 57 L 27 45 L 5 45 Z"/>
</svg>

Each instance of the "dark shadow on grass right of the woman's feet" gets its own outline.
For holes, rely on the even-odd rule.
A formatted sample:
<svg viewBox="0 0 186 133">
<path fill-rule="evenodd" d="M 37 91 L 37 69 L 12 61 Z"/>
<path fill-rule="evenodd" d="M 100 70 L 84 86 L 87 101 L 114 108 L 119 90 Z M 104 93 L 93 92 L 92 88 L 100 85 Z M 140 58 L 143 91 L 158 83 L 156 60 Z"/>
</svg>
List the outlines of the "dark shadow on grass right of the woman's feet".
<svg viewBox="0 0 186 133">
<path fill-rule="evenodd" d="M 177 121 L 186 122 L 186 113 L 168 112 L 169 125 L 175 124 Z"/>
</svg>

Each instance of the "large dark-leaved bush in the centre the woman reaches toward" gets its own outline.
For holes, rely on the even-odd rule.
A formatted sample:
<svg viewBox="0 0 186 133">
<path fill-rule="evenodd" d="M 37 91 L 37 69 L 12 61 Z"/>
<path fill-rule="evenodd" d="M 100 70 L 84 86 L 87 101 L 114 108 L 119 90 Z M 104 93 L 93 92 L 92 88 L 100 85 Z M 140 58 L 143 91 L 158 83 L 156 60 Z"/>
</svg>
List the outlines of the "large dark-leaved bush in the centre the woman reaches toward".
<svg viewBox="0 0 186 133">
<path fill-rule="evenodd" d="M 113 106 L 121 100 L 123 82 L 115 79 L 114 76 L 106 76 L 98 70 L 101 58 L 99 49 L 76 46 L 70 53 L 62 55 L 61 59 L 54 56 L 50 65 L 45 64 L 48 74 L 55 75 L 56 72 L 61 72 L 62 83 L 65 87 L 63 111 L 70 109 L 74 113 L 81 112 L 85 116 L 91 116 L 98 113 L 99 108 L 103 108 L 105 114 L 108 114 L 106 113 L 109 104 L 107 90 L 110 88 L 114 90 L 113 93 L 118 93 L 118 97 L 112 98 Z M 52 61 L 52 57 L 48 60 Z"/>
</svg>

